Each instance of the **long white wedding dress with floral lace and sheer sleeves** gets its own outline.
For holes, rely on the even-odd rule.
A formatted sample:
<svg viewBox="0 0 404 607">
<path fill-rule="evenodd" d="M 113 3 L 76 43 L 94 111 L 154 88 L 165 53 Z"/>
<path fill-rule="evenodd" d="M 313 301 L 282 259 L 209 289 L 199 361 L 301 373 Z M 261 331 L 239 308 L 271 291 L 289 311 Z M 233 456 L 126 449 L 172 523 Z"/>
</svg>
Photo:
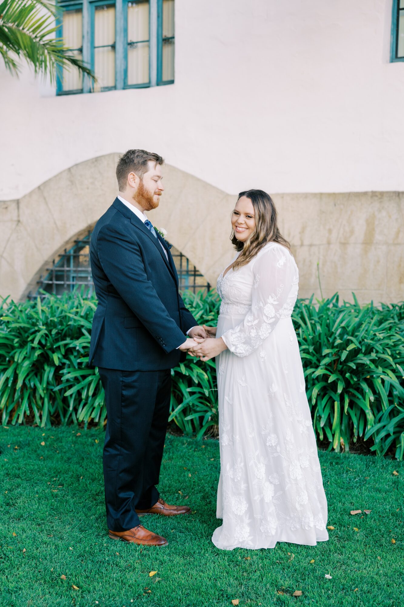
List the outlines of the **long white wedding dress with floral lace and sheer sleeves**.
<svg viewBox="0 0 404 607">
<path fill-rule="evenodd" d="M 264 246 L 217 283 L 220 463 L 218 548 L 313 546 L 328 540 L 327 501 L 291 314 L 298 270 Z"/>
</svg>

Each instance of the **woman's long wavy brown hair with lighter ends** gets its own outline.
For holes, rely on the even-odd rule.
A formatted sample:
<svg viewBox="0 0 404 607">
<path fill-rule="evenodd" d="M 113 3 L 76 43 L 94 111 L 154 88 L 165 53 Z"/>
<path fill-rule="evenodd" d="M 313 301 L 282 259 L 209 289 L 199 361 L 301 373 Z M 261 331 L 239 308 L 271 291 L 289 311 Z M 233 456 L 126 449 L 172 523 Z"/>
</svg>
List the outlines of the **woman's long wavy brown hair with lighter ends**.
<svg viewBox="0 0 404 607">
<path fill-rule="evenodd" d="M 291 245 L 284 239 L 278 228 L 278 214 L 274 201 L 271 196 L 263 190 L 246 190 L 238 194 L 237 202 L 242 196 L 249 198 L 255 211 L 255 230 L 247 242 L 243 243 L 237 240 L 234 230 L 232 230 L 231 241 L 236 251 L 241 251 L 233 265 L 233 270 L 241 268 L 251 262 L 263 246 L 269 242 L 278 242 L 286 246 L 289 251 Z"/>
</svg>

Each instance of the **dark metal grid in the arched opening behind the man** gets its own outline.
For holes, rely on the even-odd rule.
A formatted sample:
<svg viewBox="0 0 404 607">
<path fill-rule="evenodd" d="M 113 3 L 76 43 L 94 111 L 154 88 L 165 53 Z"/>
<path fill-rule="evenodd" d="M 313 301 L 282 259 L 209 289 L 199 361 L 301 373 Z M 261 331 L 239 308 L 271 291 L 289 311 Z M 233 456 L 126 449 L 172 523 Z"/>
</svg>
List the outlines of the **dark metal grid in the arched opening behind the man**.
<svg viewBox="0 0 404 607">
<path fill-rule="evenodd" d="M 94 291 L 94 283 L 90 267 L 90 238 L 91 232 L 82 239 L 75 240 L 69 250 L 59 254 L 58 260 L 53 260 L 52 267 L 46 268 L 47 274 L 38 280 L 38 292 L 52 293 L 60 296 L 66 291 L 75 291 L 84 287 L 87 294 Z M 210 285 L 194 264 L 187 259 L 178 249 L 171 248 L 171 254 L 177 268 L 180 291 L 209 291 Z M 38 296 L 29 294 L 29 298 Z"/>
</svg>

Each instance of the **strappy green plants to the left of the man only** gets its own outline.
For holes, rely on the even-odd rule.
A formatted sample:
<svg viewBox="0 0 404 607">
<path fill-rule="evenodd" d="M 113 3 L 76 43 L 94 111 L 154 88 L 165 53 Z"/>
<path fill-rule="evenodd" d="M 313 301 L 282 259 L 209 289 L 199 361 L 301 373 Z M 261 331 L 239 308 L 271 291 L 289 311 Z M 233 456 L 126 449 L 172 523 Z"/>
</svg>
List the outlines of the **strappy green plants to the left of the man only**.
<svg viewBox="0 0 404 607">
<path fill-rule="evenodd" d="M 4 304 L 0 324 L 2 424 L 103 422 L 104 393 L 88 368 L 95 297 L 62 297 Z"/>
</svg>

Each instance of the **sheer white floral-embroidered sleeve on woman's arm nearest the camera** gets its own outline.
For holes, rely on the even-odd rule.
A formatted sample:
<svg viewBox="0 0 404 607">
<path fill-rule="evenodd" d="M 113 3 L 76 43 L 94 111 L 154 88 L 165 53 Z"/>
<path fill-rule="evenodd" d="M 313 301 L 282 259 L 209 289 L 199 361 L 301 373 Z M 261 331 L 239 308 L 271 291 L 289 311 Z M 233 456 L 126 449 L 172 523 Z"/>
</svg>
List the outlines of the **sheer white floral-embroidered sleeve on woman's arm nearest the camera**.
<svg viewBox="0 0 404 607">
<path fill-rule="evenodd" d="M 251 310 L 240 325 L 221 337 L 237 356 L 248 356 L 274 330 L 281 318 L 291 316 L 297 297 L 298 275 L 292 255 L 281 245 L 258 254 L 252 268 Z"/>
</svg>

